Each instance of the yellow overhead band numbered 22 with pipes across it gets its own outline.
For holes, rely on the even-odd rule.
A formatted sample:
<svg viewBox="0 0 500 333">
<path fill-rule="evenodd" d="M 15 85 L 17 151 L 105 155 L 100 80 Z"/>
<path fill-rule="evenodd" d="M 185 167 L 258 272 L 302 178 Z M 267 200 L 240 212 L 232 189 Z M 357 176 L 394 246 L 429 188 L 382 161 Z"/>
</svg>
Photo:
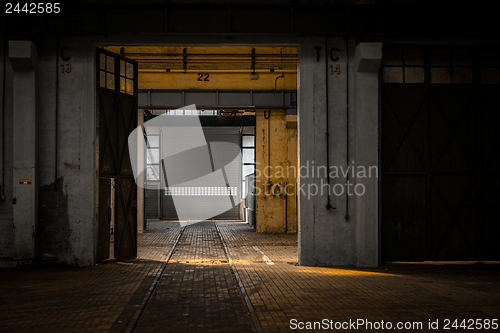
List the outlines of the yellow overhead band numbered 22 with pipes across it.
<svg viewBox="0 0 500 333">
<path fill-rule="evenodd" d="M 294 46 L 105 49 L 138 62 L 140 90 L 297 90 Z"/>
</svg>

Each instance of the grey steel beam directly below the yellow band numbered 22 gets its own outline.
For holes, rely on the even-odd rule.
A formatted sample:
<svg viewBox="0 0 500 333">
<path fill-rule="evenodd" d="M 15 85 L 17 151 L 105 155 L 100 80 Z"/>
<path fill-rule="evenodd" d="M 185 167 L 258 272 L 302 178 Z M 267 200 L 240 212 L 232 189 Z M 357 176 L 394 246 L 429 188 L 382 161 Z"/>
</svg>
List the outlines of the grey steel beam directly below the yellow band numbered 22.
<svg viewBox="0 0 500 333">
<path fill-rule="evenodd" d="M 296 109 L 296 91 L 139 91 L 140 109 Z"/>
</svg>

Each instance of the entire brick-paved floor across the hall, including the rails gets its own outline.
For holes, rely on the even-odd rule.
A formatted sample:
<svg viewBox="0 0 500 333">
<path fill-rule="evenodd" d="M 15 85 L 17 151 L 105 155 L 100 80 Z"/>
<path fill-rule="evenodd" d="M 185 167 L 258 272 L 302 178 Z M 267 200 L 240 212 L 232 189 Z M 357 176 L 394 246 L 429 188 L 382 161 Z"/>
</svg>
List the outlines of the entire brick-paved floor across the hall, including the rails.
<svg viewBox="0 0 500 333">
<path fill-rule="evenodd" d="M 0 332 L 492 332 L 494 319 L 498 264 L 302 267 L 296 235 L 241 222 L 150 222 L 129 262 L 0 269 Z"/>
</svg>

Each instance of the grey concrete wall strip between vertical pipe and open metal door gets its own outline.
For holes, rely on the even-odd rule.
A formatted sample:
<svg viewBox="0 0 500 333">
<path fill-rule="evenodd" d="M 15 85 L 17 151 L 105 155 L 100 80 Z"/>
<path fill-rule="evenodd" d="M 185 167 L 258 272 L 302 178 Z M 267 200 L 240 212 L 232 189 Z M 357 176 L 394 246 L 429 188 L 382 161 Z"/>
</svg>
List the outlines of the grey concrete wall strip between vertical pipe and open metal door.
<svg viewBox="0 0 500 333">
<path fill-rule="evenodd" d="M 89 39 L 64 37 L 59 46 L 66 47 L 66 56 L 71 57 L 67 61 L 71 72 L 59 75 L 58 94 L 58 190 L 67 197 L 70 245 L 61 260 L 87 266 L 94 262 L 95 45 Z M 48 58 L 55 63 L 54 51 Z M 54 108 L 51 103 L 47 107 Z"/>
</svg>

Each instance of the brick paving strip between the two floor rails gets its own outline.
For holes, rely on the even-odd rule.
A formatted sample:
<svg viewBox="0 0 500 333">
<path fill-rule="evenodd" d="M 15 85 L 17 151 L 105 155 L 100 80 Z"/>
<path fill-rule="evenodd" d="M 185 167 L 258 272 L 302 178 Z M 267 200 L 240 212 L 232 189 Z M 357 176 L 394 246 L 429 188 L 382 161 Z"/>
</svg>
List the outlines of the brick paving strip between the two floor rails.
<svg viewBox="0 0 500 333">
<path fill-rule="evenodd" d="M 136 331 L 253 331 L 213 222 L 186 227 Z"/>
</svg>

